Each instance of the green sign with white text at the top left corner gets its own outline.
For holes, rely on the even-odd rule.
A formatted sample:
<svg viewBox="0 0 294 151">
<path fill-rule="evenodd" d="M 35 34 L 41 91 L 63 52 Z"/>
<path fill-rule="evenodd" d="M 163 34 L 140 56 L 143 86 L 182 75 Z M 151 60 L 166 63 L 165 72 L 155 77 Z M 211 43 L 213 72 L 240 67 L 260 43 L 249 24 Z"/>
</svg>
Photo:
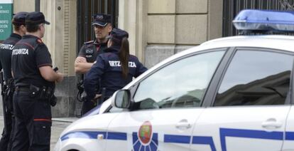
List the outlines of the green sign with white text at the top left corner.
<svg viewBox="0 0 294 151">
<path fill-rule="evenodd" d="M 12 32 L 12 0 L 0 1 L 0 41 L 8 38 Z"/>
</svg>

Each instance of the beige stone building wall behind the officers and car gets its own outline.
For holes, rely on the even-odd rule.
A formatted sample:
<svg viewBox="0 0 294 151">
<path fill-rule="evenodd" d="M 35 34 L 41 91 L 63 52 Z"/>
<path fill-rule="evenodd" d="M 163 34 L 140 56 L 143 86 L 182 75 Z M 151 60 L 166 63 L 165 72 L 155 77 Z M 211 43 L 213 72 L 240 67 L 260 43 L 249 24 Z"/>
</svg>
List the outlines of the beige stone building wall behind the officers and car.
<svg viewBox="0 0 294 151">
<path fill-rule="evenodd" d="M 34 11 L 35 0 L 14 0 L 14 12 Z M 65 73 L 55 90 L 53 117 L 80 115 L 74 61 L 77 52 L 77 1 L 40 0 L 45 26 L 44 43 L 53 66 Z M 119 28 L 129 32 L 131 53 L 148 68 L 179 51 L 222 36 L 222 1 L 119 0 Z"/>
</svg>

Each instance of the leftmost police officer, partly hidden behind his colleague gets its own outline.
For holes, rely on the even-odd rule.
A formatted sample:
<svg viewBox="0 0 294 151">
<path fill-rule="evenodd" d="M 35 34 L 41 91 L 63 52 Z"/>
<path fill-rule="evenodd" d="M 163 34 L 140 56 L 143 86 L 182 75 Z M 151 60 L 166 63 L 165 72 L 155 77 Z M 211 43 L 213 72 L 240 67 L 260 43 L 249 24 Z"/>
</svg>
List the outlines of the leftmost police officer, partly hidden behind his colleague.
<svg viewBox="0 0 294 151">
<path fill-rule="evenodd" d="M 0 140 L 0 150 L 11 150 L 11 138 L 13 135 L 13 78 L 11 75 L 11 53 L 14 45 L 21 40 L 21 36 L 26 33 L 25 19 L 27 12 L 18 12 L 13 16 L 13 33 L 0 46 L 0 63 L 4 71 L 4 80 L 8 88 L 4 92 L 4 100 L 6 113 L 4 122 L 4 130 Z"/>
</svg>

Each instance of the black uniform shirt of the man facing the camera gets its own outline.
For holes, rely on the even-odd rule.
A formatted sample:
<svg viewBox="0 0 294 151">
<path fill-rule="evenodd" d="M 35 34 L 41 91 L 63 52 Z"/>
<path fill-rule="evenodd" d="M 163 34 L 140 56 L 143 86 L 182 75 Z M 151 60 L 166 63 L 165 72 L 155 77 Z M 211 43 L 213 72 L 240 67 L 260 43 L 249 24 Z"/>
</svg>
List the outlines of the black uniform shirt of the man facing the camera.
<svg viewBox="0 0 294 151">
<path fill-rule="evenodd" d="M 101 53 L 104 53 L 106 48 L 107 42 L 98 43 L 97 41 L 88 41 L 84 43 L 80 49 L 79 56 L 85 57 L 87 59 L 87 63 L 94 63 L 97 56 L 99 56 Z"/>
</svg>

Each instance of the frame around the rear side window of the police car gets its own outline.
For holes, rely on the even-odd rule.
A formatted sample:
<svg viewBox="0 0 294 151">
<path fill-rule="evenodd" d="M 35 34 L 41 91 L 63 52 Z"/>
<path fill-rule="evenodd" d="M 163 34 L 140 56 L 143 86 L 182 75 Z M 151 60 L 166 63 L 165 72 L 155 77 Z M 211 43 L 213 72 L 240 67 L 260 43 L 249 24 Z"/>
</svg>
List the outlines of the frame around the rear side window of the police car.
<svg viewBox="0 0 294 151">
<path fill-rule="evenodd" d="M 229 53 L 227 56 L 229 59 L 227 61 L 224 61 L 222 68 L 219 68 L 219 72 L 213 80 L 214 82 L 214 86 L 212 86 L 212 88 L 214 88 L 214 90 L 209 91 L 209 95 L 211 95 L 212 99 L 209 103 L 209 107 L 212 108 L 234 108 L 234 107 L 241 107 L 241 108 L 245 108 L 245 107 L 254 107 L 254 106 L 273 106 L 273 105 L 238 105 L 238 106 L 214 106 L 215 103 L 215 99 L 217 97 L 217 92 L 219 90 L 220 85 L 222 84 L 222 80 L 224 80 L 224 75 L 225 73 L 227 73 L 227 70 L 229 68 L 229 65 L 232 63 L 232 60 L 236 54 L 236 51 L 266 51 L 266 52 L 271 52 L 271 53 L 281 53 L 281 54 L 285 54 L 285 55 L 290 55 L 293 56 L 293 65 L 292 65 L 292 71 L 290 73 L 290 96 L 286 98 L 285 103 L 283 105 L 290 105 L 293 104 L 293 71 L 294 71 L 294 52 L 290 52 L 290 51 L 284 51 L 284 50 L 280 50 L 280 49 L 273 49 L 273 48 L 259 48 L 259 47 L 246 47 L 246 46 L 242 46 L 242 47 L 231 47 L 229 48 Z M 209 101 L 209 100 L 207 100 Z M 277 105 L 276 105 L 277 106 Z"/>
</svg>

